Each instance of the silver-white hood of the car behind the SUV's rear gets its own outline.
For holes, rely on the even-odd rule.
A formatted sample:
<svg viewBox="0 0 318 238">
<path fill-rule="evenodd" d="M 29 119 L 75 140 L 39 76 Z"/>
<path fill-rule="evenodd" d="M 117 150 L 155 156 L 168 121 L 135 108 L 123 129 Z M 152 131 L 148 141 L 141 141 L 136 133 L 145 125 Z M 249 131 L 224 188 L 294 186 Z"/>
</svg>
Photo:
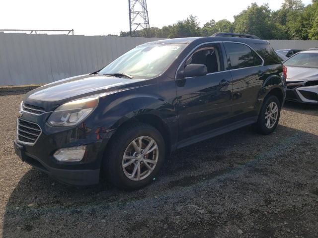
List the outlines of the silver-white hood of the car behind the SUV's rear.
<svg viewBox="0 0 318 238">
<path fill-rule="evenodd" d="M 287 67 L 287 79 L 318 80 L 318 68 Z"/>
</svg>

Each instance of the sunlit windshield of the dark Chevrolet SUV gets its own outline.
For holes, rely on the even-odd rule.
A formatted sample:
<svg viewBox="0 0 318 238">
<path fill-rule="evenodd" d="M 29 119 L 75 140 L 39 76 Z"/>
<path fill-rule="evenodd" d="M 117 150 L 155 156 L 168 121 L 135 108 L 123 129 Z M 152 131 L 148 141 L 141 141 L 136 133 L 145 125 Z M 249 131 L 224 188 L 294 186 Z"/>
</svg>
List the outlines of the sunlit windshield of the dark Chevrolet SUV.
<svg viewBox="0 0 318 238">
<path fill-rule="evenodd" d="M 185 46 L 185 44 L 141 45 L 112 61 L 98 73 L 125 73 L 134 78 L 152 78 L 162 74 Z"/>
</svg>

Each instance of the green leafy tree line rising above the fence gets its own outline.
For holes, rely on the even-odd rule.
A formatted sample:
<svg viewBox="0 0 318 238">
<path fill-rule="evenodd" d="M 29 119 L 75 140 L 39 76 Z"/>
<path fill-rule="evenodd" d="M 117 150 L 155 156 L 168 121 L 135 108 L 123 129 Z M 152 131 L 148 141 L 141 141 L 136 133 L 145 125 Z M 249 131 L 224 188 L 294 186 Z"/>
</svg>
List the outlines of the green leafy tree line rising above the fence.
<svg viewBox="0 0 318 238">
<path fill-rule="evenodd" d="M 175 38 L 211 36 L 216 32 L 252 34 L 267 40 L 318 40 L 318 0 L 307 6 L 302 0 L 285 0 L 276 11 L 268 3 L 252 3 L 234 16 L 234 22 L 212 19 L 203 27 L 196 16 L 190 15 L 173 25 L 136 31 L 134 36 Z M 121 31 L 120 36 L 129 36 L 129 32 Z"/>
</svg>

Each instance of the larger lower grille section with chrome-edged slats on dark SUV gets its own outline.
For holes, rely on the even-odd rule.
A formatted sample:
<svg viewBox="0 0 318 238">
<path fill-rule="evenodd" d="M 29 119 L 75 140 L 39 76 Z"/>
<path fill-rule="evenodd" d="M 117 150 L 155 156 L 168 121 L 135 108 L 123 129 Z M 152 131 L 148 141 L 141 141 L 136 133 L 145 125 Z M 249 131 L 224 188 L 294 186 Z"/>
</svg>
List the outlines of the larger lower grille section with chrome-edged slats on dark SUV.
<svg viewBox="0 0 318 238">
<path fill-rule="evenodd" d="M 20 118 L 16 127 L 18 141 L 29 145 L 35 144 L 42 132 L 38 124 Z"/>
</svg>

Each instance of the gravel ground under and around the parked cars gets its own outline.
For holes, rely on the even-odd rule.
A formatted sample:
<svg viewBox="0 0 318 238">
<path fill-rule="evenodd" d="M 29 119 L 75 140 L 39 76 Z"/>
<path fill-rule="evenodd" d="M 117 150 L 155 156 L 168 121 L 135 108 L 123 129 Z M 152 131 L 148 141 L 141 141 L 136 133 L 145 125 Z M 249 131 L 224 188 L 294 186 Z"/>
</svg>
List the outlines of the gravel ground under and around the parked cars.
<svg viewBox="0 0 318 238">
<path fill-rule="evenodd" d="M 267 136 L 250 126 L 174 152 L 133 192 L 78 189 L 21 162 L 23 95 L 0 96 L 0 234 L 11 237 L 318 237 L 318 107 L 288 103 Z"/>
</svg>

